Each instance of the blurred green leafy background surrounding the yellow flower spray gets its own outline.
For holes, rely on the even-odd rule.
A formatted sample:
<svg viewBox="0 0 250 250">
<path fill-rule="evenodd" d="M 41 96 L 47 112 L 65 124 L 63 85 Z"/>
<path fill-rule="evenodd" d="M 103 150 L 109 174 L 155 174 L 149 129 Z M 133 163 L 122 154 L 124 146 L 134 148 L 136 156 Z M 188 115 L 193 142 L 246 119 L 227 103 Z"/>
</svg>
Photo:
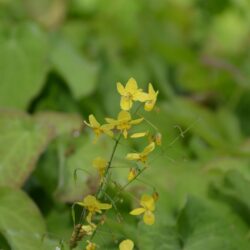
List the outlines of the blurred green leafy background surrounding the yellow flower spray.
<svg viewBox="0 0 250 250">
<path fill-rule="evenodd" d="M 95 187 L 74 170 L 110 152 L 83 120 L 116 116 L 115 83 L 133 76 L 160 91 L 162 151 L 144 177 L 157 223 L 126 216 L 125 193 L 100 249 L 249 250 L 249 27 L 247 0 L 0 0 L 0 248 L 68 241 L 70 204 Z"/>
</svg>

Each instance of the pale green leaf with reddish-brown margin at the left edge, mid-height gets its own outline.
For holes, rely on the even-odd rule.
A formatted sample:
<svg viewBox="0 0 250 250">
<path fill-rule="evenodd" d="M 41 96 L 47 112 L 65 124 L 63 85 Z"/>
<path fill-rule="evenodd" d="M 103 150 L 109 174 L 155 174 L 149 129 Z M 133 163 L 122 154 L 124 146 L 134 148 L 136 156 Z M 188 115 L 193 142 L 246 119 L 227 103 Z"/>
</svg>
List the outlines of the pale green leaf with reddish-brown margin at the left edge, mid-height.
<svg viewBox="0 0 250 250">
<path fill-rule="evenodd" d="M 20 187 L 53 136 L 23 113 L 0 111 L 0 186 Z"/>
</svg>

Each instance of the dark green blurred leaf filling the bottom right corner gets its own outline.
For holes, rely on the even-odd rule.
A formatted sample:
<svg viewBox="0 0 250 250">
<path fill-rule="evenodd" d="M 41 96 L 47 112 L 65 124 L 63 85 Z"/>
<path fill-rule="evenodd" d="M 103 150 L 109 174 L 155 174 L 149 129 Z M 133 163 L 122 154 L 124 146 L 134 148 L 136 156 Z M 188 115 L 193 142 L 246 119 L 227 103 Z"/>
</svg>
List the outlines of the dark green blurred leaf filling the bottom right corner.
<svg viewBox="0 0 250 250">
<path fill-rule="evenodd" d="M 177 225 L 185 250 L 247 250 L 250 247 L 243 223 L 196 198 L 188 198 Z"/>
</svg>

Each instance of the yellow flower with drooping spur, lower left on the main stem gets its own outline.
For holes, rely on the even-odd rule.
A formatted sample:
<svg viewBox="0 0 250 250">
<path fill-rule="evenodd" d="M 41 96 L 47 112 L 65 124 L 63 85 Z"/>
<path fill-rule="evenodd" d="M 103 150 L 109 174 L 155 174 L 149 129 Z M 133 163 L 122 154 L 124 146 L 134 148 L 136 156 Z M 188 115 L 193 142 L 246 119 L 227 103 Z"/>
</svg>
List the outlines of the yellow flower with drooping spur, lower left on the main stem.
<svg viewBox="0 0 250 250">
<path fill-rule="evenodd" d="M 86 196 L 83 201 L 77 202 L 78 205 L 85 207 L 89 213 L 87 216 L 87 221 L 89 224 L 92 224 L 91 218 L 94 213 L 102 213 L 102 210 L 107 210 L 112 208 L 111 204 L 101 203 L 93 195 Z"/>
</svg>

